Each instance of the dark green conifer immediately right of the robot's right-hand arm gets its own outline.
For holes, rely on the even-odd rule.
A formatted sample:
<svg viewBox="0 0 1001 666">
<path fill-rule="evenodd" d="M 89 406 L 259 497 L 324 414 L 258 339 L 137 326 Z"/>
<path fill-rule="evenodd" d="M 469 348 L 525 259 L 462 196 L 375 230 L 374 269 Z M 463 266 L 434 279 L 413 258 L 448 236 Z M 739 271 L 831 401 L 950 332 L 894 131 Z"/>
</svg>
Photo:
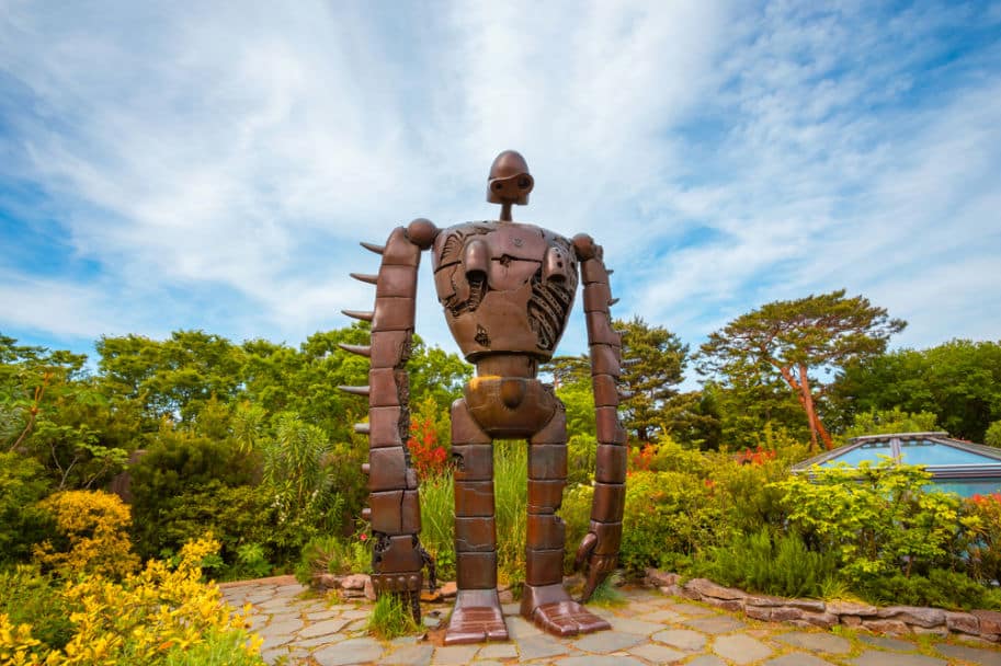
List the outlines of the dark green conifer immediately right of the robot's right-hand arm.
<svg viewBox="0 0 1001 666">
<path fill-rule="evenodd" d="M 629 394 L 623 401 L 623 425 L 638 441 L 652 441 L 668 429 L 668 404 L 678 395 L 684 379 L 689 346 L 663 326 L 653 326 L 639 317 L 616 320 L 623 331 L 622 387 Z"/>
</svg>

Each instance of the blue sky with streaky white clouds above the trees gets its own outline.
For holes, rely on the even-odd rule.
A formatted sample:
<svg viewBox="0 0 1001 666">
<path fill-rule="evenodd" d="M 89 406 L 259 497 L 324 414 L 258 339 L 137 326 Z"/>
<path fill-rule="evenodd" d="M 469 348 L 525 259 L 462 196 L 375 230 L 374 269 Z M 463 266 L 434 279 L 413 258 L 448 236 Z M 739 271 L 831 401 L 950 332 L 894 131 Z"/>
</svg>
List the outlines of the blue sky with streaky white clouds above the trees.
<svg viewBox="0 0 1001 666">
<path fill-rule="evenodd" d="M 359 240 L 496 218 L 514 148 L 515 219 L 693 348 L 839 288 L 894 346 L 1001 338 L 1001 3 L 282 4 L 0 0 L 0 332 L 298 345 L 371 306 Z"/>
</svg>

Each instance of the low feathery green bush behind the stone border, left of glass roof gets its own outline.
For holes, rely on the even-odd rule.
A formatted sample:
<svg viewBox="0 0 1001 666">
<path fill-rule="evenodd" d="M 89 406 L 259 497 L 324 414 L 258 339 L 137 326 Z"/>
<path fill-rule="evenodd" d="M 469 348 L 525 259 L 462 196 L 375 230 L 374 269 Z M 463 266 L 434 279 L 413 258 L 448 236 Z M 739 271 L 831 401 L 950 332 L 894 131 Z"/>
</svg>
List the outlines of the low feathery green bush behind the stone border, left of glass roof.
<svg viewBox="0 0 1001 666">
<path fill-rule="evenodd" d="M 771 531 L 762 529 L 708 549 L 695 571 L 723 585 L 751 592 L 820 597 L 837 564 L 830 553 L 809 551 L 795 533 L 778 535 L 773 540 Z"/>
</svg>

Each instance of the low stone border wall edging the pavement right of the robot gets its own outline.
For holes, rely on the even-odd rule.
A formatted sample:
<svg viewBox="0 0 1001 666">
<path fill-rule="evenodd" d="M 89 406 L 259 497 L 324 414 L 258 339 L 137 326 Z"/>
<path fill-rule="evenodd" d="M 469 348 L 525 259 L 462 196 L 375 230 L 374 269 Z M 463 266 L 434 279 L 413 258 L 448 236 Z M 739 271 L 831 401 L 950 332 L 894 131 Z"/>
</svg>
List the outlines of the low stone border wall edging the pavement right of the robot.
<svg viewBox="0 0 1001 666">
<path fill-rule="evenodd" d="M 955 612 L 917 606 L 880 608 L 854 601 L 786 599 L 749 594 L 717 585 L 706 578 L 693 578 L 684 584 L 681 581 L 678 574 L 650 569 L 647 570 L 644 582 L 668 595 L 685 597 L 727 610 L 742 611 L 749 618 L 769 622 L 788 622 L 797 627 L 823 629 L 844 624 L 887 634 L 958 633 L 993 643 L 1001 639 L 1001 612 L 994 610 Z"/>
</svg>

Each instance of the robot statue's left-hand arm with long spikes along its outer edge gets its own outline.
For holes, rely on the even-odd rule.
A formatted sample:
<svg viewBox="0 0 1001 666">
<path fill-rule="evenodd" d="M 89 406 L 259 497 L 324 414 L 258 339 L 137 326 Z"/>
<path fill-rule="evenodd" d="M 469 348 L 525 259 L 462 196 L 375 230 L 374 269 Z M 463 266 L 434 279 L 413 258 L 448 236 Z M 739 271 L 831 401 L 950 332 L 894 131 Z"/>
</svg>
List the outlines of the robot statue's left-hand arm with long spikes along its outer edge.
<svg viewBox="0 0 1001 666">
<path fill-rule="evenodd" d="M 368 423 L 355 429 L 368 436 L 368 505 L 362 517 L 372 524 L 375 550 L 372 569 L 377 594 L 394 593 L 410 601 L 414 618 L 422 569 L 426 563 L 434 584 L 434 564 L 421 547 L 421 512 L 417 474 L 410 464 L 407 438 L 410 434 L 410 388 L 406 364 L 413 334 L 417 272 L 421 251 L 434 242 L 437 229 L 425 219 L 398 227 L 385 245 L 362 243 L 382 256 L 377 275 L 352 277 L 375 285 L 375 308 L 371 312 L 343 311 L 372 322 L 367 346 L 341 345 L 372 361 L 368 386 L 340 387 L 349 393 L 368 397 Z"/>
</svg>

